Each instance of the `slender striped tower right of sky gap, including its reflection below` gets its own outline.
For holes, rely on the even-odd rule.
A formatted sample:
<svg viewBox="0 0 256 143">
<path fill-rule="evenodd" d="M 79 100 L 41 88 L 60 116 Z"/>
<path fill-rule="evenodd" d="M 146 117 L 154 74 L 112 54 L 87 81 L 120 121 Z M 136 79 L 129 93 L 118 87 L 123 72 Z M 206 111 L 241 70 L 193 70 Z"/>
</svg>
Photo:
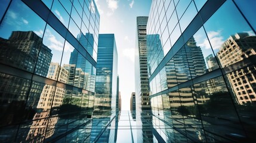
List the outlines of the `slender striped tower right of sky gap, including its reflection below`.
<svg viewBox="0 0 256 143">
<path fill-rule="evenodd" d="M 149 126 L 152 126 L 152 116 L 147 71 L 147 18 L 147 16 L 140 16 L 136 21 L 135 101 L 136 111 L 139 113 L 145 111 L 136 114 L 138 119 L 141 119 L 137 120 L 137 126 L 142 126 L 142 129 L 137 131 L 137 142 L 153 142 L 152 130 L 149 129 Z"/>
</svg>

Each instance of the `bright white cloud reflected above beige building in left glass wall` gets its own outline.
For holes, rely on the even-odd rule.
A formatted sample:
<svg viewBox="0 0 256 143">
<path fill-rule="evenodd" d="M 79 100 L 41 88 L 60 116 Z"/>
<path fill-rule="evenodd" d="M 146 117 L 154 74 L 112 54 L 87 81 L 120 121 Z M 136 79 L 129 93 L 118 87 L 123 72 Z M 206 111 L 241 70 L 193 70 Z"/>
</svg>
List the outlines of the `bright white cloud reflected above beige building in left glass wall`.
<svg viewBox="0 0 256 143">
<path fill-rule="evenodd" d="M 56 37 L 50 32 L 49 29 L 47 29 L 46 32 L 47 32 L 47 39 L 50 42 L 50 44 L 48 44 L 48 48 L 55 49 L 57 51 L 62 51 L 63 43 L 58 41 Z"/>
</svg>

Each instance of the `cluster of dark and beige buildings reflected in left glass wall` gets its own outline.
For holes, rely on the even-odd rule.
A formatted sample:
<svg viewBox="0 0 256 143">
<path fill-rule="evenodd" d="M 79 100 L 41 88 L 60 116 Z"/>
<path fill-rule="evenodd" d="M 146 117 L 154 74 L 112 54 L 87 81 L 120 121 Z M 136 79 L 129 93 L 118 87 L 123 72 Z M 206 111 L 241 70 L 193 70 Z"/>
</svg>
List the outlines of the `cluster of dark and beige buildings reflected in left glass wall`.
<svg viewBox="0 0 256 143">
<path fill-rule="evenodd" d="M 60 66 L 59 63 L 51 63 L 51 57 L 53 55 L 51 54 L 51 49 L 45 46 L 42 43 L 42 38 L 34 32 L 13 32 L 9 39 L 1 38 L 0 43 L 1 54 L 4 53 L 1 57 L 2 64 L 8 64 L 9 66 L 29 72 L 35 70 L 38 75 L 47 76 L 48 79 L 94 91 L 95 75 L 93 75 L 92 66 L 88 64 L 88 61 L 84 57 L 77 58 L 81 54 L 76 49 L 71 53 L 70 64 Z M 38 61 L 36 61 L 37 59 Z M 30 120 L 32 119 L 33 122 L 27 131 L 26 141 L 42 142 L 44 139 L 53 136 L 59 116 L 63 114 L 64 105 L 81 106 L 81 108 L 86 109 L 85 114 L 92 113 L 92 111 L 90 113 L 90 110 L 93 108 L 94 94 L 89 95 L 90 93 L 87 93 L 87 98 L 84 98 L 84 95 L 87 95 L 85 92 L 70 91 L 55 85 L 38 82 L 33 82 L 30 87 L 30 80 L 4 73 L 1 73 L 1 77 L 3 77 L 1 79 L 3 82 L 10 81 L 7 84 L 1 84 L 2 87 L 8 87 L 8 90 L 2 90 L 2 105 L 5 102 L 9 105 L 6 110 L 3 108 L 3 111 L 7 113 L 5 114 L 7 117 L 2 118 L 2 125 L 13 124 L 29 118 Z M 13 86 L 13 90 L 10 90 L 11 85 L 15 83 L 12 81 L 16 81 L 17 85 Z M 28 91 L 29 88 L 30 92 Z M 28 93 L 29 98 L 27 98 L 26 102 Z M 8 96 L 6 96 L 7 94 Z M 13 102 L 13 104 L 10 104 L 10 102 Z M 26 110 L 22 110 L 22 113 L 20 113 L 18 108 L 24 108 L 25 104 Z M 10 107 L 10 105 L 13 107 Z M 6 106 L 4 105 L 2 107 Z M 11 111 L 12 108 L 13 111 Z M 23 119 L 18 118 L 17 120 L 19 114 L 26 116 Z M 21 134 L 23 135 L 20 136 L 24 136 L 26 131 Z"/>
</svg>

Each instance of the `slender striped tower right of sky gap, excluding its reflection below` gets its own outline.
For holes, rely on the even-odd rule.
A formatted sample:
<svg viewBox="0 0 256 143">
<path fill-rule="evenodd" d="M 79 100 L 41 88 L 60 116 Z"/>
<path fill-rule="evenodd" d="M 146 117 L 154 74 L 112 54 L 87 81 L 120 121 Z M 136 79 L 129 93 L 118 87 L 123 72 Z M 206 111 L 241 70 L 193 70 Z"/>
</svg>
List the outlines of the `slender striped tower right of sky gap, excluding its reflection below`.
<svg viewBox="0 0 256 143">
<path fill-rule="evenodd" d="M 137 17 L 135 48 L 136 110 L 150 110 L 149 82 L 147 79 L 147 18 Z"/>
</svg>

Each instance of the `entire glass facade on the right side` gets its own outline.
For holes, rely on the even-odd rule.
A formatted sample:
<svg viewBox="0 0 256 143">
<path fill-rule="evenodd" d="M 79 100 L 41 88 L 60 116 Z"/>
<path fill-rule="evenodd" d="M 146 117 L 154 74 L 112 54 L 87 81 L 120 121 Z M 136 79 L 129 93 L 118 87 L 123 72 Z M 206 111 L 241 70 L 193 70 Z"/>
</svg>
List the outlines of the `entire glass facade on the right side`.
<svg viewBox="0 0 256 143">
<path fill-rule="evenodd" d="M 152 122 L 165 142 L 253 141 L 255 4 L 152 1 L 149 93 Z"/>
</svg>

